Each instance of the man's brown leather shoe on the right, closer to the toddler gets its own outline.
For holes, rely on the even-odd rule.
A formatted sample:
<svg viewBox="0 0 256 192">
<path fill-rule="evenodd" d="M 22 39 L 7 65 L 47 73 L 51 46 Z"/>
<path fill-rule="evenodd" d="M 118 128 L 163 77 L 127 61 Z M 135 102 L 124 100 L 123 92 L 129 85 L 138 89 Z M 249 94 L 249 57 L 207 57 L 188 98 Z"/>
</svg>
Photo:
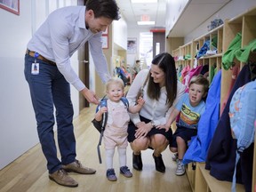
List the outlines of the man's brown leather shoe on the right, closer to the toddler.
<svg viewBox="0 0 256 192">
<path fill-rule="evenodd" d="M 78 160 L 71 164 L 64 165 L 62 164 L 62 168 L 66 172 L 76 172 L 80 174 L 94 174 L 96 170 L 88 167 L 84 167 Z"/>
</svg>

